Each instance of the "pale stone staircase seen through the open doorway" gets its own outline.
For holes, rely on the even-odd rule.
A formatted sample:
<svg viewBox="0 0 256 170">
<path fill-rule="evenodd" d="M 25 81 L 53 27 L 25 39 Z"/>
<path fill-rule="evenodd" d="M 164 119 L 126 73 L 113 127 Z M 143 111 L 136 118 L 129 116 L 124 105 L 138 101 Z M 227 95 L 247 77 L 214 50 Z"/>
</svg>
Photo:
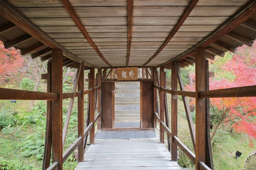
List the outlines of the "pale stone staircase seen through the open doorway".
<svg viewBox="0 0 256 170">
<path fill-rule="evenodd" d="M 140 82 L 118 82 L 115 122 L 140 122 Z"/>
</svg>

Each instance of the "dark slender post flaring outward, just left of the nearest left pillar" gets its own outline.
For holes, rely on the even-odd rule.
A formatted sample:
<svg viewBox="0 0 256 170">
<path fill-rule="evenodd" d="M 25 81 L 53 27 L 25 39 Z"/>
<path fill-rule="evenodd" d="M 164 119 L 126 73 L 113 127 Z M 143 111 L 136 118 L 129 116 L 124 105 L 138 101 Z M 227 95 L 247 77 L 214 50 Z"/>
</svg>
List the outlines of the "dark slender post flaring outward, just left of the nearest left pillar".
<svg viewBox="0 0 256 170">
<path fill-rule="evenodd" d="M 47 92 L 52 92 L 52 62 L 47 63 Z M 50 166 L 52 152 L 52 101 L 47 100 L 46 130 L 44 142 L 44 159 L 42 170 Z"/>
</svg>

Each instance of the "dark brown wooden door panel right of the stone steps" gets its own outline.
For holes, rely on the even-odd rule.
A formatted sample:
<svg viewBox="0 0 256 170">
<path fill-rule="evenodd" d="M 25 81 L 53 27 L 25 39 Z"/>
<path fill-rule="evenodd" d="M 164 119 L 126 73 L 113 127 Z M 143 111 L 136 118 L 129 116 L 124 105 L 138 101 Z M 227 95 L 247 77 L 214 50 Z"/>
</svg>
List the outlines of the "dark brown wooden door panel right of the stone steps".
<svg viewBox="0 0 256 170">
<path fill-rule="evenodd" d="M 140 82 L 140 127 L 154 128 L 154 82 Z"/>
</svg>

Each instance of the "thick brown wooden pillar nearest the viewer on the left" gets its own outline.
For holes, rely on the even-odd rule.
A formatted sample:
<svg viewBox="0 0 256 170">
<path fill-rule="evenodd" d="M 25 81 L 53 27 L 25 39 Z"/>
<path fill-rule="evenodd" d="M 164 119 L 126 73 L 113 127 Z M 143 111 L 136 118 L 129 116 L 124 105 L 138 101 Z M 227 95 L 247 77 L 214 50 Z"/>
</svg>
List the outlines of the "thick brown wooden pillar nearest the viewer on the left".
<svg viewBox="0 0 256 170">
<path fill-rule="evenodd" d="M 60 49 L 52 50 L 52 93 L 58 99 L 52 101 L 52 162 L 58 162 L 58 170 L 62 170 L 62 60 Z"/>
</svg>

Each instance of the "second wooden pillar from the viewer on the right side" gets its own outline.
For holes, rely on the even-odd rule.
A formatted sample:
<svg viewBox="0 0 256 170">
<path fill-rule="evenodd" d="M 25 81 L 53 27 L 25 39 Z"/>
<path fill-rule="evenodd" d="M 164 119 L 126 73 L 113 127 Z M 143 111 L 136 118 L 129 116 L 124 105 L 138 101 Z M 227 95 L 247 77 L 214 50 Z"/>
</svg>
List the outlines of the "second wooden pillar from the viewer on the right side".
<svg viewBox="0 0 256 170">
<path fill-rule="evenodd" d="M 172 62 L 172 90 L 177 90 L 178 79 L 177 69 L 175 68 L 175 62 Z M 177 104 L 178 96 L 172 94 L 172 161 L 177 161 L 177 144 L 173 141 L 173 136 L 177 136 Z"/>
</svg>

